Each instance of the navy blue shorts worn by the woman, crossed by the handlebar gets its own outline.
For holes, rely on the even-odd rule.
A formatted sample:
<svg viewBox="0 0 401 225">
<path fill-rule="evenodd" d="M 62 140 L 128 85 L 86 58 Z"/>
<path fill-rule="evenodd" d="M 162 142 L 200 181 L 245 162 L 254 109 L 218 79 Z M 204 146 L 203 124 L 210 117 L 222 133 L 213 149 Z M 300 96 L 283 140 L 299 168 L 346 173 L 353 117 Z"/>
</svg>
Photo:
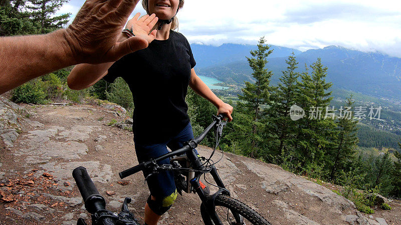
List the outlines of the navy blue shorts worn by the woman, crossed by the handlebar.
<svg viewBox="0 0 401 225">
<path fill-rule="evenodd" d="M 167 146 L 172 150 L 179 149 L 183 146 L 185 141 L 193 138 L 192 126 L 190 123 L 186 125 L 177 135 L 163 143 L 156 144 L 141 144 L 135 140 L 135 151 L 139 163 L 148 161 L 150 158 L 155 158 L 168 152 Z M 158 164 L 170 164 L 170 159 L 166 158 L 158 162 Z M 146 177 L 149 173 L 144 171 L 143 175 Z M 151 175 L 147 180 L 147 185 L 150 194 L 158 199 L 170 195 L 175 191 L 174 175 L 172 171 L 162 171 L 157 174 Z"/>
</svg>

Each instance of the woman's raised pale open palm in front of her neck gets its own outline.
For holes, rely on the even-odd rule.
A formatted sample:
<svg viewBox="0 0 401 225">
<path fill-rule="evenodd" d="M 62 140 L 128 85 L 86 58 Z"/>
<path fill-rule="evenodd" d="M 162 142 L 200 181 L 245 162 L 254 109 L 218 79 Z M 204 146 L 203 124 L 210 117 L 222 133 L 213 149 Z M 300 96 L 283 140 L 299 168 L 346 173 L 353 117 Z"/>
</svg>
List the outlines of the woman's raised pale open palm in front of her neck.
<svg viewBox="0 0 401 225">
<path fill-rule="evenodd" d="M 146 14 L 139 18 L 140 15 L 141 13 L 136 13 L 132 19 L 128 20 L 125 28 L 132 29 L 135 36 L 143 37 L 150 43 L 156 38 L 157 30 L 152 30 L 152 28 L 156 24 L 158 18 L 154 13 L 151 15 Z"/>
</svg>

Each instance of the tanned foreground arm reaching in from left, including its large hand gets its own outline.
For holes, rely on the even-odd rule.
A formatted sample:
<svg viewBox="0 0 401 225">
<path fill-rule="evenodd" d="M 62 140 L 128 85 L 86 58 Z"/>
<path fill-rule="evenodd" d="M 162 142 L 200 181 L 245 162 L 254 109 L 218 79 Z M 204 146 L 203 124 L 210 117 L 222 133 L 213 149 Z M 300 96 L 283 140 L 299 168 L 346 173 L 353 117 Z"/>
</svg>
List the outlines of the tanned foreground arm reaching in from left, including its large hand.
<svg viewBox="0 0 401 225">
<path fill-rule="evenodd" d="M 138 1 L 86 0 L 67 29 L 0 38 L 0 94 L 69 65 L 116 61 L 147 47 L 139 36 L 117 42 Z"/>
</svg>

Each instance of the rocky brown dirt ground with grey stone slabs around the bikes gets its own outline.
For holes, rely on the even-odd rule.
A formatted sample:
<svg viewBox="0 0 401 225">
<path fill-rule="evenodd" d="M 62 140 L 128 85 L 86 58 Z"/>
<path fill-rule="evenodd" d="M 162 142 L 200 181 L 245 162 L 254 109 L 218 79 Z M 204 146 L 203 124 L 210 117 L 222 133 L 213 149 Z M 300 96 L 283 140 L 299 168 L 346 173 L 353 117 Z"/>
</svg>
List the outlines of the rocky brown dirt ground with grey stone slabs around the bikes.
<svg viewBox="0 0 401 225">
<path fill-rule="evenodd" d="M 109 209 L 117 211 L 125 196 L 142 221 L 149 194 L 141 173 L 118 172 L 137 164 L 133 134 L 107 125 L 125 120 L 113 106 L 17 105 L 0 97 L 0 224 L 76 224 L 89 218 L 72 178 L 85 166 Z M 209 147 L 198 147 L 208 156 Z M 221 154 L 216 154 L 215 160 Z M 232 195 L 273 224 L 399 224 L 401 205 L 358 212 L 352 202 L 277 165 L 225 153 L 217 164 Z M 106 191 L 111 194 L 109 195 Z M 202 224 L 199 199 L 178 196 L 160 224 Z"/>
</svg>

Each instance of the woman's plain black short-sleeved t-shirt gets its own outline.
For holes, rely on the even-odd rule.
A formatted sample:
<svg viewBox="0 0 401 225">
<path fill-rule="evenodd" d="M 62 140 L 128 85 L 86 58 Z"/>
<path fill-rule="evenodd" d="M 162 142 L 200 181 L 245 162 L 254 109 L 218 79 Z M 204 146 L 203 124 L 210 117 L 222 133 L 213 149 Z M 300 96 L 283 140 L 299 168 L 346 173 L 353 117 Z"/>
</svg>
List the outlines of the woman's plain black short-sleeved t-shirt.
<svg viewBox="0 0 401 225">
<path fill-rule="evenodd" d="M 167 40 L 153 40 L 108 69 L 106 81 L 121 76 L 131 89 L 135 141 L 161 143 L 188 124 L 185 95 L 195 64 L 187 39 L 170 30 Z"/>
</svg>

